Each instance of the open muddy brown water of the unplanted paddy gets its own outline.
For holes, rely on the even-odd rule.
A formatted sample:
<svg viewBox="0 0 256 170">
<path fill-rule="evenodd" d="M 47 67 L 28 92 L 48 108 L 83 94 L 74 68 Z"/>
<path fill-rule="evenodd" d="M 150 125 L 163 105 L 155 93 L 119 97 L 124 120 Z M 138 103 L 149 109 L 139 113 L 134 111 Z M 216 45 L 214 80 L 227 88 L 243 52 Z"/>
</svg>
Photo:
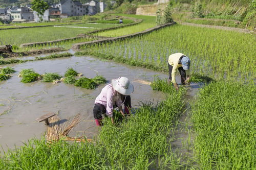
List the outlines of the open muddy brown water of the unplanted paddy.
<svg viewBox="0 0 256 170">
<path fill-rule="evenodd" d="M 65 119 L 82 113 L 83 122 L 74 128 L 70 136 L 82 134 L 93 138 L 98 132 L 92 114 L 94 100 L 105 85 L 94 90 L 82 89 L 65 83 L 51 84 L 33 82 L 24 84 L 17 77 L 22 69 L 32 68 L 38 74 L 45 72 L 58 72 L 64 75 L 67 67 L 73 67 L 88 78 L 97 74 L 103 75 L 108 83 L 113 78 L 127 77 L 134 84 L 135 92 L 131 95 L 132 106 L 138 108 L 138 101 L 152 101 L 157 103 L 164 99 L 164 94 L 153 91 L 149 85 L 136 80 L 152 81 L 154 75 L 166 78 L 167 75 L 159 72 L 124 66 L 113 62 L 98 60 L 92 57 L 69 57 L 53 60 L 41 60 L 22 64 L 9 64 L 17 71 L 7 81 L 0 82 L 0 144 L 6 151 L 7 148 L 19 147 L 23 141 L 30 138 L 40 138 L 44 135 L 44 123 L 37 123 L 35 119 L 49 112 L 58 112 L 62 122 Z"/>
</svg>

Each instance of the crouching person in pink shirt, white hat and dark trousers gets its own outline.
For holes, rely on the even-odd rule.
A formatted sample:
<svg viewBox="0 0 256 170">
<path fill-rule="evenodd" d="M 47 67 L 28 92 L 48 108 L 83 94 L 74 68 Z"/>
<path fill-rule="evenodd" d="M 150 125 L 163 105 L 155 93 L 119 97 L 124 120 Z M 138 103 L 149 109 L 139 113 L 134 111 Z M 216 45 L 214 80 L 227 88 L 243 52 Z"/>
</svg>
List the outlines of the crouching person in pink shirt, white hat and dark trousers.
<svg viewBox="0 0 256 170">
<path fill-rule="evenodd" d="M 130 114 L 132 108 L 130 94 L 133 91 L 134 87 L 126 77 L 113 79 L 111 84 L 106 85 L 95 100 L 93 115 L 96 125 L 102 125 L 102 114 L 109 116 L 114 124 L 113 110 L 116 107 L 124 116 L 122 104 L 124 104 L 125 113 Z"/>
</svg>

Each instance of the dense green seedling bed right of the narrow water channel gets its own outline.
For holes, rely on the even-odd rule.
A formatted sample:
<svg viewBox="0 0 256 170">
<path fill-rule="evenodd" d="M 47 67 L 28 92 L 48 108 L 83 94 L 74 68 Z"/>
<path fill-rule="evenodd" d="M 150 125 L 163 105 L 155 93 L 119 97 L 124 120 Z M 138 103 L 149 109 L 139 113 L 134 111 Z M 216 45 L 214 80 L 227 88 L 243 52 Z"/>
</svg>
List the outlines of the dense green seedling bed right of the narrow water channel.
<svg viewBox="0 0 256 170">
<path fill-rule="evenodd" d="M 255 169 L 255 85 L 215 82 L 192 107 L 202 169 Z"/>
</svg>

